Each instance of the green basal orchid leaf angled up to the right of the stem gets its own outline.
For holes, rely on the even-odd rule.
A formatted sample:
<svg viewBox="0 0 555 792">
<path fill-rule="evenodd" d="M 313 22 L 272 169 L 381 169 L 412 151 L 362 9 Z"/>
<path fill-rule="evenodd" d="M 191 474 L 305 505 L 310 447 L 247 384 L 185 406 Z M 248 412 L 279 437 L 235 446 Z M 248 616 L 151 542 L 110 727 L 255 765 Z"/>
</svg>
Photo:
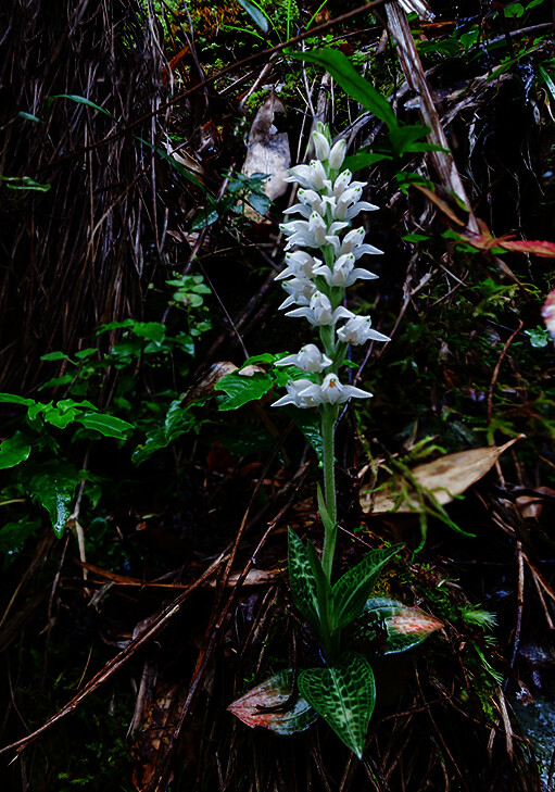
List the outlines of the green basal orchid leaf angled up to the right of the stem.
<svg viewBox="0 0 555 792">
<path fill-rule="evenodd" d="M 335 627 L 341 628 L 360 616 L 382 567 L 403 545 L 371 550 L 360 564 L 349 569 L 333 586 Z"/>
</svg>

